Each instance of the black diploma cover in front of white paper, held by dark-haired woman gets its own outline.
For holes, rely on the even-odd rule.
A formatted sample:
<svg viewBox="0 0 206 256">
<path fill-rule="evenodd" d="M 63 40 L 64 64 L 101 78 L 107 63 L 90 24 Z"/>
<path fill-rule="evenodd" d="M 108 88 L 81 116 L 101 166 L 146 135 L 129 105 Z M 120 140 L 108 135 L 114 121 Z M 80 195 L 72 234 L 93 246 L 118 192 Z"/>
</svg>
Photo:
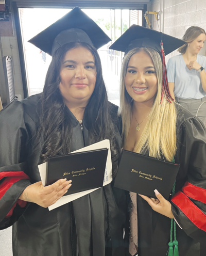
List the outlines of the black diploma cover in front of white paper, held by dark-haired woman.
<svg viewBox="0 0 206 256">
<path fill-rule="evenodd" d="M 48 158 L 46 186 L 59 179 L 72 180 L 72 186 L 64 196 L 102 187 L 108 149 L 98 149 L 57 155 Z"/>
</svg>

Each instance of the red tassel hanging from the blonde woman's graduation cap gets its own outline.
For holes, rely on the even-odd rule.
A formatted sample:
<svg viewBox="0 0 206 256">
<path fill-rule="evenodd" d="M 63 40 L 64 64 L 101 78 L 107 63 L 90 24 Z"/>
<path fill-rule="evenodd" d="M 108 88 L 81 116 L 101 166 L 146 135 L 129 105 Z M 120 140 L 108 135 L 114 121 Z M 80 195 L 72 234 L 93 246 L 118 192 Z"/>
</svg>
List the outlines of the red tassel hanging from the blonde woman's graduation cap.
<svg viewBox="0 0 206 256">
<path fill-rule="evenodd" d="M 162 71 L 163 71 L 163 75 L 162 75 L 162 93 L 161 93 L 161 102 L 160 102 L 160 104 L 162 103 L 163 96 L 169 103 L 171 103 L 172 101 L 174 101 L 174 99 L 171 97 L 171 94 L 169 92 L 169 86 L 168 86 L 168 80 L 167 80 L 167 69 L 166 69 L 164 49 L 163 49 L 163 42 L 161 42 L 160 45 L 161 45 L 162 66 L 163 66 L 163 69 L 162 69 Z"/>
</svg>

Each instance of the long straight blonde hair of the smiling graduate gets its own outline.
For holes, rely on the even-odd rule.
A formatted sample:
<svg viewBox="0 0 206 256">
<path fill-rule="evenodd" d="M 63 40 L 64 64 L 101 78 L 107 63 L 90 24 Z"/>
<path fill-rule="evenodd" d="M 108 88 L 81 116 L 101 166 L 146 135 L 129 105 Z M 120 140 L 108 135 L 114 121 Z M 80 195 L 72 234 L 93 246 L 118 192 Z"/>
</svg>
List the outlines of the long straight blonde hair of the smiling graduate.
<svg viewBox="0 0 206 256">
<path fill-rule="evenodd" d="M 157 74 L 158 90 L 157 96 L 148 117 L 145 129 L 134 146 L 134 152 L 148 151 L 149 156 L 160 159 L 162 156 L 171 161 L 176 153 L 176 108 L 175 103 L 168 103 L 165 98 L 161 102 L 162 91 L 162 60 L 160 54 L 150 48 L 135 48 L 129 51 L 123 60 L 121 70 L 120 86 L 120 108 L 119 114 L 123 120 L 123 146 L 126 145 L 132 119 L 132 98 L 125 88 L 125 76 L 131 56 L 140 51 L 145 51 L 152 59 Z"/>
</svg>

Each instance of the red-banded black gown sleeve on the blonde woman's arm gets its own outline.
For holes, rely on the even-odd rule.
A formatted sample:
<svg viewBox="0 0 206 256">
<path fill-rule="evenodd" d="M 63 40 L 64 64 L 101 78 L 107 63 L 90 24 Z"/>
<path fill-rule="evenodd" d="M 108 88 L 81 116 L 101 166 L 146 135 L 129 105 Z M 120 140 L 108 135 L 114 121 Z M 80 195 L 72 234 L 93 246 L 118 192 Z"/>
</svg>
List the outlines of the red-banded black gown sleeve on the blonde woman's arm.
<svg viewBox="0 0 206 256">
<path fill-rule="evenodd" d="M 198 118 L 188 118 L 178 136 L 181 168 L 187 182 L 171 199 L 171 210 L 181 228 L 193 239 L 206 239 L 206 130 Z M 180 162 L 179 162 L 180 161 Z"/>
</svg>

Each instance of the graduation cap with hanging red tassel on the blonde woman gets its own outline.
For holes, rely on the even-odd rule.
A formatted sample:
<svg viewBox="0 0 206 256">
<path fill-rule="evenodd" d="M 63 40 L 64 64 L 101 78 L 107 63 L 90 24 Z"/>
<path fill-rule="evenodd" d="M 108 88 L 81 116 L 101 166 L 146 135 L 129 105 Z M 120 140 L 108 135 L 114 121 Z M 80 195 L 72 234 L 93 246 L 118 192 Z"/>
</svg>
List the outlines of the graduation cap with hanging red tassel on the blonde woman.
<svg viewBox="0 0 206 256">
<path fill-rule="evenodd" d="M 134 48 L 147 47 L 157 51 L 162 56 L 163 63 L 162 98 L 164 95 L 165 99 L 171 103 L 174 99 L 171 97 L 168 88 L 165 55 L 175 51 L 183 44 L 185 44 L 183 40 L 163 34 L 157 30 L 132 25 L 109 47 L 109 49 L 128 53 Z"/>
</svg>

